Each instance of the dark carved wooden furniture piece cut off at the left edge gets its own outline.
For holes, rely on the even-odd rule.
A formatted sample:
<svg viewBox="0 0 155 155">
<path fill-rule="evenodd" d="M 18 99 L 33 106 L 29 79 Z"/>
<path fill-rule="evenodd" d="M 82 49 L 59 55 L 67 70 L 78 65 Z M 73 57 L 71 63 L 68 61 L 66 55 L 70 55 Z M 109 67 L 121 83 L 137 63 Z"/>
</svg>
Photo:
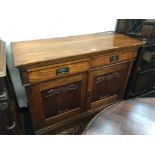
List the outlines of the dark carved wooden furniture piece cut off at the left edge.
<svg viewBox="0 0 155 155">
<path fill-rule="evenodd" d="M 22 134 L 19 112 L 6 66 L 5 43 L 0 40 L 0 134 Z"/>
</svg>

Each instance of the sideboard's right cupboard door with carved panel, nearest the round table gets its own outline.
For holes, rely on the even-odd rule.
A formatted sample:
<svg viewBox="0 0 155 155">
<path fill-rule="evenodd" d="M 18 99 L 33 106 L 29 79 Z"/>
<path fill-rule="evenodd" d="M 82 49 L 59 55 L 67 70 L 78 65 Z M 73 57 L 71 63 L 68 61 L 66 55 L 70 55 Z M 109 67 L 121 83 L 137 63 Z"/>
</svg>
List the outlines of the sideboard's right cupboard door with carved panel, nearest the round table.
<svg viewBox="0 0 155 155">
<path fill-rule="evenodd" d="M 129 63 L 93 70 L 89 74 L 87 107 L 96 108 L 121 99 Z"/>
</svg>

